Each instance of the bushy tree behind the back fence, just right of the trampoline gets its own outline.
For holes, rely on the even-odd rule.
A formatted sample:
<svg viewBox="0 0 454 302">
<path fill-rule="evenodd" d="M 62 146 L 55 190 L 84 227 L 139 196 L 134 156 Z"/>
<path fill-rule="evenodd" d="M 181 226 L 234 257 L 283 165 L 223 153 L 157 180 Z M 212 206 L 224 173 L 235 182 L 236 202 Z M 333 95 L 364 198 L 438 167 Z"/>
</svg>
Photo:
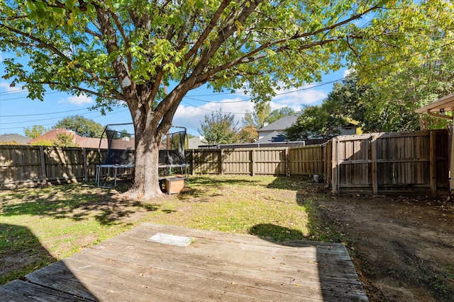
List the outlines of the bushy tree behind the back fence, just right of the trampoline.
<svg viewBox="0 0 454 302">
<path fill-rule="evenodd" d="M 205 115 L 201 122 L 199 133 L 204 137 L 205 144 L 236 144 L 239 142 L 238 123 L 234 122 L 235 115 L 223 114 L 221 111 Z"/>
</svg>

